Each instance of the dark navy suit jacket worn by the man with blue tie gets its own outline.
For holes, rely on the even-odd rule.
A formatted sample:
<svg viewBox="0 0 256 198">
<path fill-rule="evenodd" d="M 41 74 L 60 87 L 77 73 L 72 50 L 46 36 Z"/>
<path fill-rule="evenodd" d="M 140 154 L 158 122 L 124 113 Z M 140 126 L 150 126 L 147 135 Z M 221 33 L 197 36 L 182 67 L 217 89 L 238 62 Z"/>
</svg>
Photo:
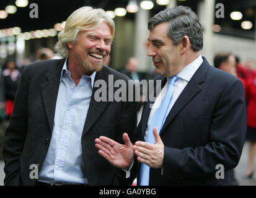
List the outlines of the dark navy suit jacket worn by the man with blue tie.
<svg viewBox="0 0 256 198">
<path fill-rule="evenodd" d="M 157 79 L 163 85 L 166 82 L 164 77 Z M 141 140 L 150 111 L 148 102 L 138 126 Z M 245 134 L 242 82 L 204 59 L 160 131 L 165 146 L 163 174 L 161 168 L 151 168 L 149 185 L 228 185 L 229 170 L 239 162 Z M 218 164 L 224 166 L 224 179 L 216 179 Z"/>
</svg>

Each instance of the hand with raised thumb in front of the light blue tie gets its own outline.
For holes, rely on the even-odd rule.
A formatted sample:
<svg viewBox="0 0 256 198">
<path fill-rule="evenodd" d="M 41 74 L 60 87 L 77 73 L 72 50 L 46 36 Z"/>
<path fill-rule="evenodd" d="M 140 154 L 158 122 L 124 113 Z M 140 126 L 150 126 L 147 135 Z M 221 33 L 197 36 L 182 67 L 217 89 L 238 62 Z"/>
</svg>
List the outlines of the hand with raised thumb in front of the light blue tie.
<svg viewBox="0 0 256 198">
<path fill-rule="evenodd" d="M 138 161 L 148 165 L 151 168 L 162 168 L 164 161 L 164 143 L 159 136 L 156 127 L 153 129 L 153 134 L 156 140 L 155 144 L 148 142 L 135 142 L 133 150 L 138 156 Z"/>
</svg>

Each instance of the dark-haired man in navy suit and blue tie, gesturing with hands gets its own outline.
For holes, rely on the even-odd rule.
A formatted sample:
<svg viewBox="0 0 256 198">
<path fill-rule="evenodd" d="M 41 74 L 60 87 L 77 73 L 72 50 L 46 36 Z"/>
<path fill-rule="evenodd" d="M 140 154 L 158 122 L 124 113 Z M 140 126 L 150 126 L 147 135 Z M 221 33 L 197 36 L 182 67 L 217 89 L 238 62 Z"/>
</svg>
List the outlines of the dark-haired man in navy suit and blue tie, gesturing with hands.
<svg viewBox="0 0 256 198">
<path fill-rule="evenodd" d="M 138 184 L 229 185 L 246 133 L 241 81 L 201 56 L 202 28 L 190 8 L 161 11 L 148 28 L 148 56 L 162 91 L 152 108 L 145 103 L 141 141 L 127 149 L 139 161 Z M 95 142 L 110 163 L 123 163 L 114 154 L 121 145 L 107 137 Z"/>
</svg>

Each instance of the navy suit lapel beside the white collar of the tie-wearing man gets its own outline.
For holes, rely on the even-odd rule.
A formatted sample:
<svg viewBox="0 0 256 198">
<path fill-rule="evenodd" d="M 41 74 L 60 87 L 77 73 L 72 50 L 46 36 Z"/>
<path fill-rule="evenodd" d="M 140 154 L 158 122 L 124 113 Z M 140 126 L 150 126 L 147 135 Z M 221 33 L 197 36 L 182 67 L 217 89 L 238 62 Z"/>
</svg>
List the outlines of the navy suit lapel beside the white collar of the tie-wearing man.
<svg viewBox="0 0 256 198">
<path fill-rule="evenodd" d="M 192 100 L 192 98 L 195 97 L 197 93 L 201 91 L 200 84 L 205 82 L 206 74 L 209 67 L 210 64 L 204 58 L 203 63 L 195 72 L 192 79 L 190 79 L 187 86 L 180 94 L 179 98 L 175 101 L 174 106 L 172 106 L 172 109 L 170 110 L 170 113 L 168 114 L 164 126 L 162 127 L 160 132 L 164 131 L 164 129 L 166 129 L 168 124 L 172 121 L 172 119 L 175 118 L 175 116 L 177 116 L 177 114 L 182 110 L 182 108 L 185 105 L 187 105 L 189 101 Z"/>
</svg>

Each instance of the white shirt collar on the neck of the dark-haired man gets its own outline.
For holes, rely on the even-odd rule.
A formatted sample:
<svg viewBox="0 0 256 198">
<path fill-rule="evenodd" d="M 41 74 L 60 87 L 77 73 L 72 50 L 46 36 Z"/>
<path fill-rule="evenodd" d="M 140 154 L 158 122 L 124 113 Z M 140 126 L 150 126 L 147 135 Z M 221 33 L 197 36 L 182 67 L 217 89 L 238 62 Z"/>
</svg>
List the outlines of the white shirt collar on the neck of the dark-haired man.
<svg viewBox="0 0 256 198">
<path fill-rule="evenodd" d="M 177 74 L 180 79 L 189 81 L 192 76 L 195 74 L 196 70 L 201 66 L 203 58 L 201 54 L 193 62 L 190 62 L 182 71 Z"/>
</svg>

